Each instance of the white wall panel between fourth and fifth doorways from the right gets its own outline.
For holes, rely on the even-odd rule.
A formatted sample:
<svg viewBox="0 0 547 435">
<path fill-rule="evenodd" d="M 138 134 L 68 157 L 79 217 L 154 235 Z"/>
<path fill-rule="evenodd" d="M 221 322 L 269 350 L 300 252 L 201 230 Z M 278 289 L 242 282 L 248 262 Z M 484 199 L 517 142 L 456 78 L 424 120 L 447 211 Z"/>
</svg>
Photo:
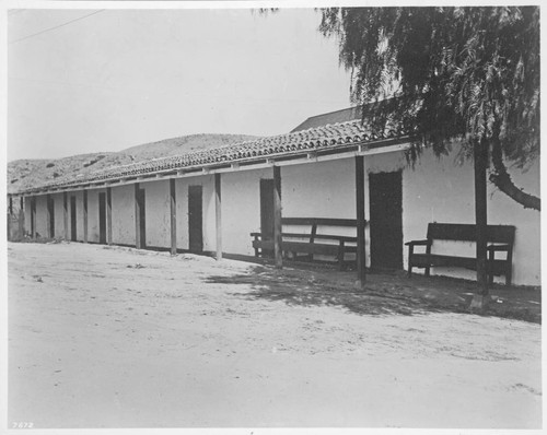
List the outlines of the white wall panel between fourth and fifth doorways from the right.
<svg viewBox="0 0 547 435">
<path fill-rule="evenodd" d="M 112 188 L 112 242 L 135 246 L 135 186 Z"/>
</svg>

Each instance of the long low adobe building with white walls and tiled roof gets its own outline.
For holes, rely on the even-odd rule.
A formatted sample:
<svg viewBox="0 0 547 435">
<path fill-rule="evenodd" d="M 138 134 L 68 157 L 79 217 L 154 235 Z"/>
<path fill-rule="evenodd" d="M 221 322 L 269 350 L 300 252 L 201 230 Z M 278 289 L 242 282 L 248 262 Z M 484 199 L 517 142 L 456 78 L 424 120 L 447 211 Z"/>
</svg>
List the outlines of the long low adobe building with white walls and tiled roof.
<svg viewBox="0 0 547 435">
<path fill-rule="evenodd" d="M 346 109 L 312 117 L 287 134 L 113 167 L 14 197 L 24 198 L 32 236 L 251 258 L 259 252 L 251 233 L 276 238 L 281 222 L 291 222 L 282 219 L 314 217 L 323 219 L 317 235 L 348 237 L 348 258 L 364 258 L 358 269 L 407 269 L 405 242 L 423 239 L 428 223 L 475 224 L 473 162 L 424 150 L 412 168 L 405 157 L 410 138 L 397 129 L 371 133 L 357 110 Z M 512 177 L 539 193 L 539 162 Z M 540 213 L 491 184 L 487 207 L 489 225 L 515 227 L 512 283 L 540 285 Z M 282 232 L 310 233 L 311 226 Z M 443 244 L 475 256 L 473 243 L 434 249 Z M 431 273 L 476 279 L 453 267 Z"/>
</svg>

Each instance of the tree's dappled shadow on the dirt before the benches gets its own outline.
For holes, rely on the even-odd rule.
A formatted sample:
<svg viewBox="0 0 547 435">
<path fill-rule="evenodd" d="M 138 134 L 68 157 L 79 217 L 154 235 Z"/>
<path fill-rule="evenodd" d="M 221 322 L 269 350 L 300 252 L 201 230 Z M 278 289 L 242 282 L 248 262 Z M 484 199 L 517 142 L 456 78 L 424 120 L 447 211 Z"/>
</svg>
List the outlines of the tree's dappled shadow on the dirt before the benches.
<svg viewBox="0 0 547 435">
<path fill-rule="evenodd" d="M 256 266 L 246 273 L 209 277 L 207 283 L 242 284 L 253 292 L 233 293 L 248 299 L 282 301 L 300 306 L 337 306 L 360 315 L 414 315 L 430 311 L 469 313 L 476 283 L 445 277 L 408 278 L 405 272 L 369 273 L 361 289 L 354 272 L 312 267 L 277 270 Z M 540 324 L 540 289 L 494 284 L 484 315 Z"/>
</svg>

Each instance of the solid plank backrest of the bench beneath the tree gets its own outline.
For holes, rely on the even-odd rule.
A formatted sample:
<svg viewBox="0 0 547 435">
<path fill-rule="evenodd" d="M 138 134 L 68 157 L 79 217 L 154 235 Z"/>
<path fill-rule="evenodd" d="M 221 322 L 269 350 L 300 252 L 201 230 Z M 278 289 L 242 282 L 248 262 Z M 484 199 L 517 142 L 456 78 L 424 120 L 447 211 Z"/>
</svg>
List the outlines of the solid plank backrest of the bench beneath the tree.
<svg viewBox="0 0 547 435">
<path fill-rule="evenodd" d="M 513 225 L 488 225 L 487 242 L 513 245 L 514 232 Z M 477 227 L 474 224 L 430 223 L 428 239 L 476 242 Z"/>
</svg>

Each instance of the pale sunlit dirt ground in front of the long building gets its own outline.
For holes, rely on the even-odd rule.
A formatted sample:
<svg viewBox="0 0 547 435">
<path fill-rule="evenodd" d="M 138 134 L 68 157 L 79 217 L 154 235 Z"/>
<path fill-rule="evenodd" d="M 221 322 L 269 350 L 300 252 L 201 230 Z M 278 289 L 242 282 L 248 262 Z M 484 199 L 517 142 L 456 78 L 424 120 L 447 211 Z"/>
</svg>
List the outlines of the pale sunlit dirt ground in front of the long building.
<svg viewBox="0 0 547 435">
<path fill-rule="evenodd" d="M 352 272 L 68 243 L 8 260 L 9 427 L 542 426 L 540 325 L 457 313 L 458 282 L 356 290 Z"/>
</svg>

